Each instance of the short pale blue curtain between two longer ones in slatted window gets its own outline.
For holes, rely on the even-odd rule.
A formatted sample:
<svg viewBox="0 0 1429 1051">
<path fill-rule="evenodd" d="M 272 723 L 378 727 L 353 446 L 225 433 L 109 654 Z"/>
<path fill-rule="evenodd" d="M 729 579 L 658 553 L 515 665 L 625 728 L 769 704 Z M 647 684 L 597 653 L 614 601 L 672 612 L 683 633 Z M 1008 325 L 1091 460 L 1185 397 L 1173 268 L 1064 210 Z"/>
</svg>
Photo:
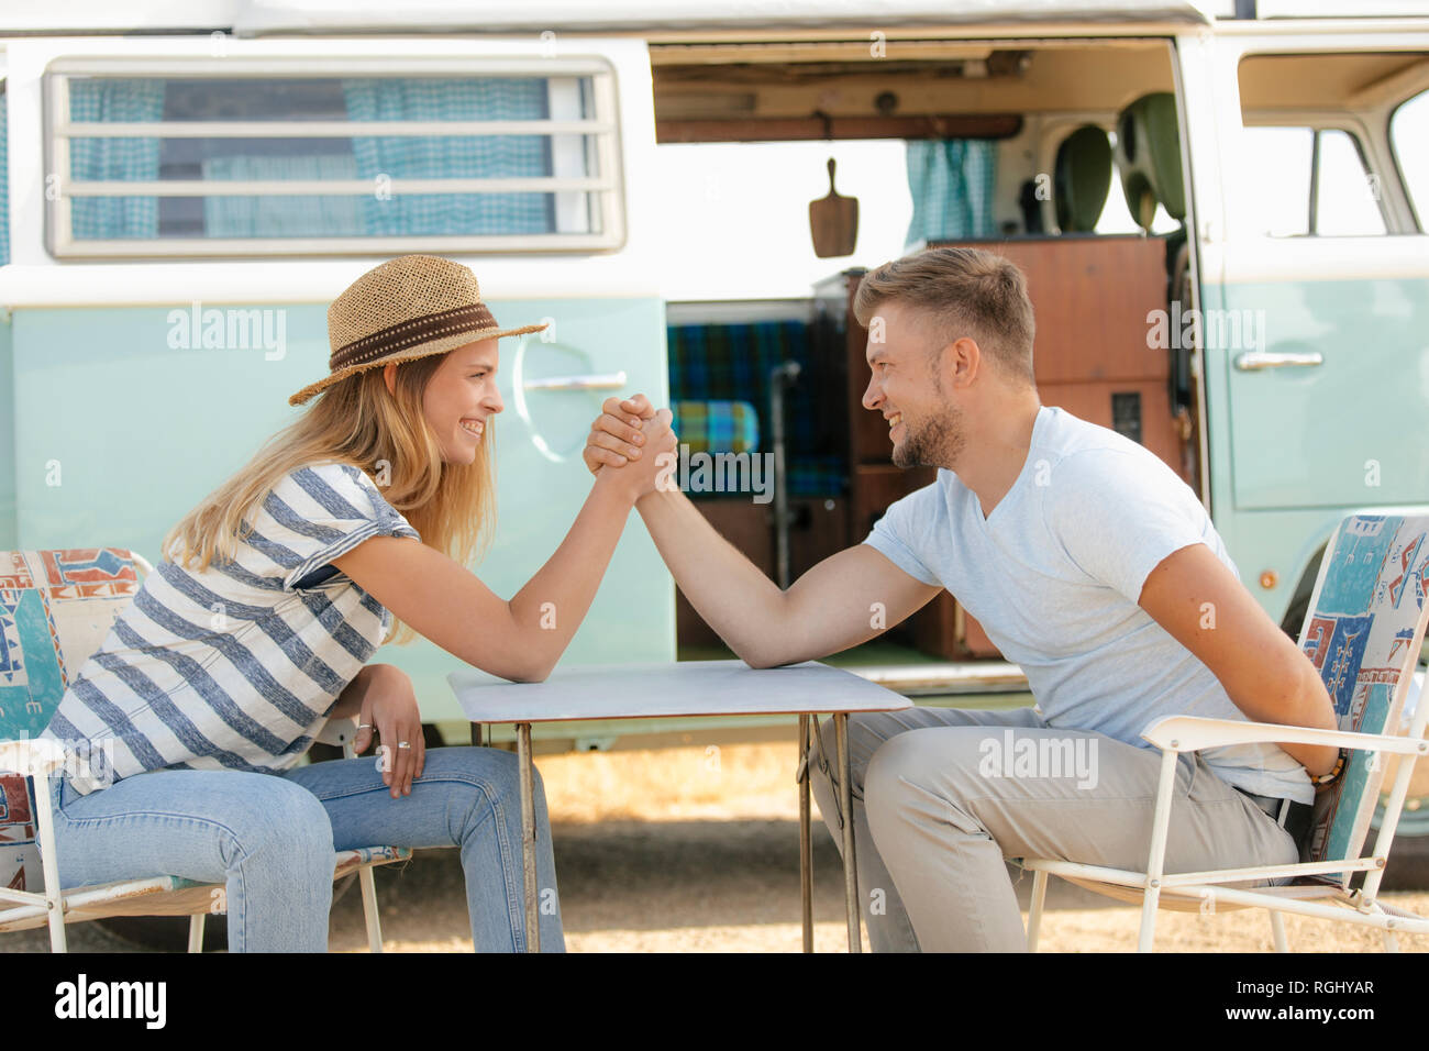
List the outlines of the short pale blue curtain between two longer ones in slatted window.
<svg viewBox="0 0 1429 1051">
<path fill-rule="evenodd" d="M 312 157 L 209 157 L 203 177 L 223 180 L 356 179 L 352 154 Z M 363 233 L 362 199 L 204 197 L 203 229 L 209 237 L 352 237 Z"/>
</svg>

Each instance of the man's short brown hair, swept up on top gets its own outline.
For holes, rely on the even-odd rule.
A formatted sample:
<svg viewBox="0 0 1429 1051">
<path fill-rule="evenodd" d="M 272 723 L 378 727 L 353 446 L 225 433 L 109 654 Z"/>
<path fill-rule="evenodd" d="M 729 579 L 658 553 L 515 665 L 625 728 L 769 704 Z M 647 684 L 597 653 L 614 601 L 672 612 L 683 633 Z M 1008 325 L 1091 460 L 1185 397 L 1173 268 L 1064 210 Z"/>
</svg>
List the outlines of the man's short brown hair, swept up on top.
<svg viewBox="0 0 1429 1051">
<path fill-rule="evenodd" d="M 1033 383 L 1032 339 L 1036 323 L 1027 280 L 1003 256 L 982 249 L 927 249 L 865 275 L 853 297 L 853 316 L 867 327 L 885 302 L 925 312 L 939 349 L 972 336 L 1012 380 Z"/>
</svg>

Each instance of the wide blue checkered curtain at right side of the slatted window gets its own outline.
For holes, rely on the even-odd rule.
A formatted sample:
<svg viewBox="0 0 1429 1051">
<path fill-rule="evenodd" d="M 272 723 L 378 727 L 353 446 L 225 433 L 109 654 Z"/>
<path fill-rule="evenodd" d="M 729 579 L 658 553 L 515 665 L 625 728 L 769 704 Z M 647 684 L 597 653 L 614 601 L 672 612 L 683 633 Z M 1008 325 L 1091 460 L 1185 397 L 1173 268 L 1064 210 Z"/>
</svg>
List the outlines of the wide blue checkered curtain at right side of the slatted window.
<svg viewBox="0 0 1429 1051">
<path fill-rule="evenodd" d="M 344 80 L 352 120 L 542 120 L 540 77 Z M 482 179 L 552 174 L 543 136 L 363 136 L 353 139 L 359 179 Z M 363 199 L 370 236 L 550 233 L 546 193 L 407 193 Z"/>
</svg>

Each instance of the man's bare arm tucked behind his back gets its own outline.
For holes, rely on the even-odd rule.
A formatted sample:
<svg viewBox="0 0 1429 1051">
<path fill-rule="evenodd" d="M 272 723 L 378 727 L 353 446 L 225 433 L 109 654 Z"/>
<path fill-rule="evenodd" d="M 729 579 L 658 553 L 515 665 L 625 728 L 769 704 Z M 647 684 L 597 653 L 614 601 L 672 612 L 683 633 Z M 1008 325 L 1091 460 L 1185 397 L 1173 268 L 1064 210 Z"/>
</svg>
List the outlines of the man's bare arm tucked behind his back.
<svg viewBox="0 0 1429 1051">
<path fill-rule="evenodd" d="M 1140 606 L 1200 658 L 1236 708 L 1255 722 L 1335 729 L 1335 706 L 1300 652 L 1205 543 L 1167 555 L 1142 585 Z M 1326 774 L 1338 751 L 1280 745 L 1310 774 Z"/>
</svg>

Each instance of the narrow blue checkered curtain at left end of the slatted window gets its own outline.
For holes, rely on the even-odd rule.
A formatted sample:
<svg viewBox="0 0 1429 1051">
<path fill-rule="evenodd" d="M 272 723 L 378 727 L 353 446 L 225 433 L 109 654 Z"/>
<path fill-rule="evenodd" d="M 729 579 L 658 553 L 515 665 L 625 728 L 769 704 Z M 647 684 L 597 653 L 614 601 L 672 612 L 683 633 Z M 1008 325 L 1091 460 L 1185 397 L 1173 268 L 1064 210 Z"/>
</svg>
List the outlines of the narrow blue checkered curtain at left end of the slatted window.
<svg viewBox="0 0 1429 1051">
<path fill-rule="evenodd" d="M 70 120 L 131 123 L 161 120 L 163 80 L 70 80 Z M 71 139 L 70 179 L 76 182 L 159 177 L 159 139 Z M 73 236 L 156 237 L 157 197 L 74 197 Z"/>
</svg>

